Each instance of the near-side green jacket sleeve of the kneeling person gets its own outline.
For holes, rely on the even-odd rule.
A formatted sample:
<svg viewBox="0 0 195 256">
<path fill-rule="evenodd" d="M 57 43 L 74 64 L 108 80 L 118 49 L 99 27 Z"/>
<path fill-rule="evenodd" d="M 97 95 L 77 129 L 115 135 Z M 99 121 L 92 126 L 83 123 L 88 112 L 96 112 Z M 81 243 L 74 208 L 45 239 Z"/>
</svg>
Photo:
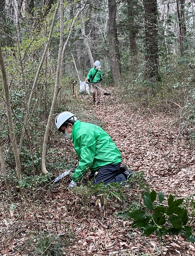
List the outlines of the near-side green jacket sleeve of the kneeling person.
<svg viewBox="0 0 195 256">
<path fill-rule="evenodd" d="M 79 165 L 76 167 L 72 175 L 74 182 L 80 182 L 86 175 L 88 168 L 93 165 L 95 156 L 96 141 L 93 135 L 84 134 L 78 138 L 80 147 Z"/>
</svg>

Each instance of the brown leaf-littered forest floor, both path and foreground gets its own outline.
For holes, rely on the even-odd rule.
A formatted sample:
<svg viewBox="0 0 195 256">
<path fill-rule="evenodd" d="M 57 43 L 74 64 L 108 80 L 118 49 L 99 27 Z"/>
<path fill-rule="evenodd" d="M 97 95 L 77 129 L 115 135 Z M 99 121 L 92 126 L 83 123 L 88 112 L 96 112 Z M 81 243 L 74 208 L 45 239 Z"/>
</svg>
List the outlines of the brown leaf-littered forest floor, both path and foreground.
<svg viewBox="0 0 195 256">
<path fill-rule="evenodd" d="M 87 97 L 91 101 L 91 96 Z M 92 107 L 90 102 L 89 109 L 104 123 L 104 129 L 120 149 L 122 164 L 130 167 L 133 173 L 141 171 L 150 191 L 154 189 L 167 196 L 172 194 L 184 198 L 186 204 L 189 198 L 195 200 L 195 152 L 185 135 L 176 142 L 176 118 L 141 109 L 135 111 L 117 102 L 114 95 L 102 96 L 102 105 Z M 64 140 L 60 138 L 58 144 L 62 151 Z M 66 144 L 67 154 L 71 154 L 73 147 L 70 142 Z M 4 236 L 0 237 L 0 256 L 195 255 L 195 244 L 187 242 L 181 235 L 159 238 L 154 233 L 146 237 L 139 229 L 131 227 L 131 219 L 116 216 L 117 212 L 135 203 L 135 198 L 141 200 L 143 188 L 137 184 L 133 189 L 124 188 L 128 198 L 125 202 L 116 197 L 106 202 L 106 191 L 102 195 L 93 195 L 84 186 L 80 190 L 67 189 L 70 177 L 67 179 L 52 187 L 36 205 L 32 198 L 28 202 L 17 203 L 12 210 L 5 204 L 2 206 L 1 202 L 1 231 Z M 193 220 L 194 216 L 192 212 L 190 219 Z M 37 234 L 42 235 L 38 238 Z M 45 249 L 42 250 L 41 237 L 45 239 Z M 58 239 L 56 243 L 55 239 Z M 60 246 L 60 241 L 63 253 L 55 247 Z"/>
</svg>

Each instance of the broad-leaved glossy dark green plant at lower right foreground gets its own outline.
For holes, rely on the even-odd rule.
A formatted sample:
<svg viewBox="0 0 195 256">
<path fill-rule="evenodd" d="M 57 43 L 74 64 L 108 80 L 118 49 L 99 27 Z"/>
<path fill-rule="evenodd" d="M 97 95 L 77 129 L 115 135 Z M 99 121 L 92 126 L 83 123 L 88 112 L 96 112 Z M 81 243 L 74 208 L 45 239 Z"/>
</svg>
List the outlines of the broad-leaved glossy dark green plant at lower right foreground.
<svg viewBox="0 0 195 256">
<path fill-rule="evenodd" d="M 187 241 L 195 242 L 195 235 L 192 234 L 191 227 L 187 225 L 187 210 L 181 207 L 183 200 L 169 195 L 167 206 L 165 206 L 162 204 L 164 201 L 162 192 L 147 191 L 143 194 L 144 209 L 126 212 L 125 217 L 134 219 L 132 227 L 142 229 L 145 236 L 155 231 L 159 237 L 180 233 L 187 238 Z"/>
</svg>

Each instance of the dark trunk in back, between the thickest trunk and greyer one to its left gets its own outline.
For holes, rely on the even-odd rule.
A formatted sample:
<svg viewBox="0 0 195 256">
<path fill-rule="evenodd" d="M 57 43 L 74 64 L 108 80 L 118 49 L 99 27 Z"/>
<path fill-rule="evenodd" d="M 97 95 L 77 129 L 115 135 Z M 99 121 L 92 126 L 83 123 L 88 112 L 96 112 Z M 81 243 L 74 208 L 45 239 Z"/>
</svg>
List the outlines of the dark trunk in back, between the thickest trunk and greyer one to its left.
<svg viewBox="0 0 195 256">
<path fill-rule="evenodd" d="M 129 35 L 130 35 L 130 49 L 132 53 L 136 52 L 136 34 L 137 29 L 134 21 L 134 11 L 133 11 L 133 0 L 127 0 L 127 10 L 128 10 L 128 26 L 129 26 Z"/>
</svg>

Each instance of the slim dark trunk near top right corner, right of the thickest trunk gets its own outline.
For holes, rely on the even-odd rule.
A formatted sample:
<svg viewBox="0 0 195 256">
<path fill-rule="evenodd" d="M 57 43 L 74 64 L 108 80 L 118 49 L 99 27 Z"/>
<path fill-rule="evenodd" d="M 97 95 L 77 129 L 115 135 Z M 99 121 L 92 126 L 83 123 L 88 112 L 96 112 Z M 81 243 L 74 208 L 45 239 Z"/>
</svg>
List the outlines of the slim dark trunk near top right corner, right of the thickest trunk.
<svg viewBox="0 0 195 256">
<path fill-rule="evenodd" d="M 176 0 L 177 5 L 177 17 L 179 23 L 179 45 L 180 45 L 180 55 L 184 55 L 184 38 L 186 35 L 186 25 L 185 25 L 185 0 Z"/>
</svg>

